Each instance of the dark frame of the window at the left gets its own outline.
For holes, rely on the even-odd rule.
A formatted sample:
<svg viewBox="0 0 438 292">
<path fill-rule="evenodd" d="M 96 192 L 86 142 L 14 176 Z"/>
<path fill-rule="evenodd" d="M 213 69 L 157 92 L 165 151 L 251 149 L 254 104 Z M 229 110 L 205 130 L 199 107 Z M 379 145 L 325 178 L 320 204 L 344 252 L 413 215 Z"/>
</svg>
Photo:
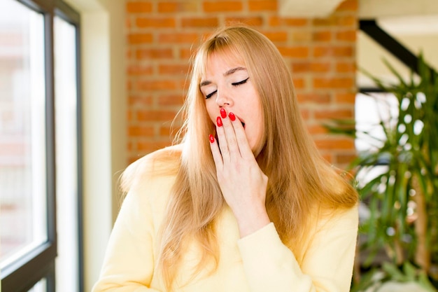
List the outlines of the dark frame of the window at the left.
<svg viewBox="0 0 438 292">
<path fill-rule="evenodd" d="M 48 240 L 6 266 L 1 271 L 1 289 L 4 292 L 24 292 L 38 281 L 46 280 L 47 291 L 55 291 L 56 235 L 56 176 L 55 176 L 55 80 L 54 80 L 54 18 L 58 16 L 76 27 L 76 79 L 77 79 L 77 129 L 78 129 L 78 287 L 83 291 L 83 221 L 82 221 L 82 133 L 80 104 L 80 15 L 62 0 L 12 0 L 18 1 L 44 19 L 45 55 L 45 143 L 47 186 L 47 232 Z"/>
</svg>

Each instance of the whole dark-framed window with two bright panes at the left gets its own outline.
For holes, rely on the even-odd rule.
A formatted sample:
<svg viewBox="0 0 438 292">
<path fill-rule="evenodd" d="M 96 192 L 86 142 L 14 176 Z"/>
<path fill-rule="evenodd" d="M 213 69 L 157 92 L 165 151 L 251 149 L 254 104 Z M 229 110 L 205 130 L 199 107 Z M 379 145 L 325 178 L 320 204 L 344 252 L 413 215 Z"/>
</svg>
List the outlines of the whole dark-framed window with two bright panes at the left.
<svg viewBox="0 0 438 292">
<path fill-rule="evenodd" d="M 62 1 L 0 1 L 4 292 L 82 291 L 78 26 Z"/>
</svg>

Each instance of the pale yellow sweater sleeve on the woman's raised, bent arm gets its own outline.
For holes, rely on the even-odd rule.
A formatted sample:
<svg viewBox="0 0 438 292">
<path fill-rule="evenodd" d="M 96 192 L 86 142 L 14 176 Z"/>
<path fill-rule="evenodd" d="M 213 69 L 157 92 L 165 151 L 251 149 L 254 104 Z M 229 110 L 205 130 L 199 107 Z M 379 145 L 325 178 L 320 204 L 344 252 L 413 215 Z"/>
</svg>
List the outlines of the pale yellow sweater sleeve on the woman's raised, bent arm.
<svg viewBox="0 0 438 292">
<path fill-rule="evenodd" d="M 281 242 L 274 223 L 239 240 L 251 292 L 348 292 L 353 274 L 358 209 L 320 224 L 302 264 Z"/>
</svg>

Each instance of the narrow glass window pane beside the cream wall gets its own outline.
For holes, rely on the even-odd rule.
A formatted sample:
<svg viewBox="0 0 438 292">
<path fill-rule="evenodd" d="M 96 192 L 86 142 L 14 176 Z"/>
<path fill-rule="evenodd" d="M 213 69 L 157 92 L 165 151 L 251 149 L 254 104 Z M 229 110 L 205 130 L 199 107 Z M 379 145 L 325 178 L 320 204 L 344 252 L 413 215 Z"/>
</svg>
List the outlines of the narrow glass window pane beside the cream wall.
<svg viewBox="0 0 438 292">
<path fill-rule="evenodd" d="M 76 27 L 55 18 L 57 291 L 78 291 Z M 68 288 L 66 288 L 68 287 Z"/>
</svg>

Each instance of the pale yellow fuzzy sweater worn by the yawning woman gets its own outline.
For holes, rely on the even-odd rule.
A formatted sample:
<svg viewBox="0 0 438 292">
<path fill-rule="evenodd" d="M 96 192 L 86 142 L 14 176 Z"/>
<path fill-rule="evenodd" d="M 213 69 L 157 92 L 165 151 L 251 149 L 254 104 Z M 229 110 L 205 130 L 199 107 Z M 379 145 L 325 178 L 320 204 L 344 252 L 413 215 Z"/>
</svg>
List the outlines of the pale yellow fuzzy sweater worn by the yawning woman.
<svg viewBox="0 0 438 292">
<path fill-rule="evenodd" d="M 150 155 L 134 162 L 150 167 Z M 157 232 L 175 176 L 141 176 L 129 188 L 92 292 L 164 292 L 155 273 Z M 274 223 L 239 238 L 236 219 L 225 209 L 218 221 L 220 262 L 192 279 L 200 248 L 192 242 L 178 272 L 181 292 L 347 292 L 350 290 L 358 232 L 358 209 L 321 220 L 312 230 L 302 264 L 278 237 Z M 180 286 L 178 286 L 178 284 Z"/>
</svg>

